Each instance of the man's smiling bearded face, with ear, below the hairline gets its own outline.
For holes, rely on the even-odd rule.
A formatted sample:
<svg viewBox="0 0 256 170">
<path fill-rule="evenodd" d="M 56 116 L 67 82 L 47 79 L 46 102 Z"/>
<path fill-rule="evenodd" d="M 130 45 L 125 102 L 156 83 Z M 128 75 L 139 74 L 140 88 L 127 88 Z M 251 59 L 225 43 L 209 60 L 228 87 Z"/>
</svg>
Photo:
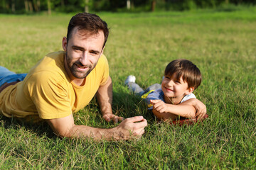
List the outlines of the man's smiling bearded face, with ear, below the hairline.
<svg viewBox="0 0 256 170">
<path fill-rule="evenodd" d="M 97 61 L 102 55 L 105 38 L 102 30 L 99 33 L 90 35 L 80 33 L 74 28 L 70 39 L 63 38 L 63 50 L 65 56 L 65 70 L 71 80 L 85 79 L 94 69 Z"/>
</svg>

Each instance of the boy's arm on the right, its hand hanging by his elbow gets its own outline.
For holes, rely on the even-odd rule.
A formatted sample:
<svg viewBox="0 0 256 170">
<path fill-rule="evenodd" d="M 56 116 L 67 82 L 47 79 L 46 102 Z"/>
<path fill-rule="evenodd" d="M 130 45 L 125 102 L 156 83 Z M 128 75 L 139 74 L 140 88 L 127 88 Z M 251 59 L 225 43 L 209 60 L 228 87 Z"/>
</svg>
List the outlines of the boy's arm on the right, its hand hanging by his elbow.
<svg viewBox="0 0 256 170">
<path fill-rule="evenodd" d="M 196 117 L 198 119 L 201 119 L 201 118 L 203 118 L 204 115 L 206 115 L 206 112 L 207 112 L 206 105 L 204 105 L 201 101 L 199 101 L 196 98 L 188 99 L 187 101 L 184 101 L 181 104 L 191 105 L 194 108 L 196 108 Z"/>
</svg>

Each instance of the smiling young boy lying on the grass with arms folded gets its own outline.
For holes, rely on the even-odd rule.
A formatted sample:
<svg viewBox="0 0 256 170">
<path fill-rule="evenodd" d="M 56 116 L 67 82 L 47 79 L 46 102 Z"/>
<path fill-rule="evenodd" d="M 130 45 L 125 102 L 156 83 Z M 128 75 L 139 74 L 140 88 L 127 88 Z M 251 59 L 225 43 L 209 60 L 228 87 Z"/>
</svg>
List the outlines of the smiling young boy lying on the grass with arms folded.
<svg viewBox="0 0 256 170">
<path fill-rule="evenodd" d="M 188 60 L 178 59 L 170 62 L 165 69 L 164 79 L 160 84 L 153 84 L 145 91 L 135 83 L 130 75 L 125 84 L 135 94 L 146 98 L 148 109 L 152 110 L 160 120 L 188 118 L 196 120 L 196 116 L 207 118 L 206 113 L 196 115 L 198 101 L 193 91 L 201 84 L 201 72 L 195 64 Z M 195 101 L 196 99 L 196 101 Z M 195 104 L 196 103 L 196 104 Z"/>
</svg>

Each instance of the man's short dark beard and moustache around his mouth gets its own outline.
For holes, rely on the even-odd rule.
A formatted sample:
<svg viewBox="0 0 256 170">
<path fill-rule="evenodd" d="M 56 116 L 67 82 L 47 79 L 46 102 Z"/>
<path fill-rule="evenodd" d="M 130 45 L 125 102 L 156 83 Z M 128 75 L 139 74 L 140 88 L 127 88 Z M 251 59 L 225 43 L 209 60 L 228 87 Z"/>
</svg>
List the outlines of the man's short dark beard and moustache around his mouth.
<svg viewBox="0 0 256 170">
<path fill-rule="evenodd" d="M 82 63 L 79 60 L 75 61 L 72 64 L 71 63 L 72 62 L 71 61 L 72 57 L 68 56 L 68 52 L 66 52 L 66 59 L 67 59 L 68 69 L 70 69 L 70 72 L 73 74 L 73 76 L 75 78 L 78 78 L 78 79 L 85 79 L 85 77 L 87 77 L 87 75 L 90 74 L 90 72 L 92 72 L 92 69 L 94 69 L 95 65 L 96 65 L 96 64 L 94 64 L 94 65 L 89 65 L 89 64 L 82 65 Z M 78 68 L 77 65 L 79 65 L 80 67 L 87 67 L 88 68 L 87 72 L 80 72 L 80 71 L 78 71 L 77 70 L 77 68 Z"/>
</svg>

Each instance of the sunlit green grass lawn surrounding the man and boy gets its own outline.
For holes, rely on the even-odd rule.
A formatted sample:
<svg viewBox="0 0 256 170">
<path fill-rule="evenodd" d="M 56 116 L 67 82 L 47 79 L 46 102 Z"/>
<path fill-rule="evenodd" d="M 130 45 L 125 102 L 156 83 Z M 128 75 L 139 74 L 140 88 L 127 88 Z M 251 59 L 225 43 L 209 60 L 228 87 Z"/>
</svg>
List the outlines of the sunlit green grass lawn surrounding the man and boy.
<svg viewBox="0 0 256 170">
<path fill-rule="evenodd" d="M 141 140 L 61 140 L 48 125 L 23 125 L 1 116 L 0 169 L 255 169 L 256 13 L 247 11 L 98 13 L 110 26 L 105 48 L 113 81 L 113 109 L 125 118 L 144 115 Z M 0 65 L 28 72 L 48 52 L 62 50 L 71 15 L 0 15 Z M 129 74 L 146 88 L 159 83 L 166 64 L 195 63 L 206 103 L 203 124 L 157 123 L 129 93 Z M 95 99 L 75 113 L 77 124 L 112 128 Z"/>
</svg>

